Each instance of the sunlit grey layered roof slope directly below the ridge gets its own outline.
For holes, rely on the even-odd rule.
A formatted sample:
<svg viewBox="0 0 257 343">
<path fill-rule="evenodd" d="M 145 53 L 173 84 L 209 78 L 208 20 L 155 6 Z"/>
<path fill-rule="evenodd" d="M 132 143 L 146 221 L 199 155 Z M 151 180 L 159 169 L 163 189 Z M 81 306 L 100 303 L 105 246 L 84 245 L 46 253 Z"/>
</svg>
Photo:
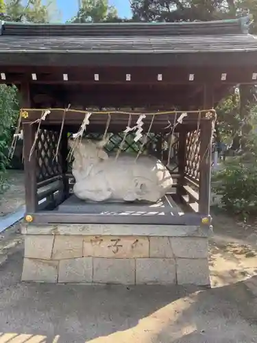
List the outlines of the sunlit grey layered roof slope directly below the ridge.
<svg viewBox="0 0 257 343">
<path fill-rule="evenodd" d="M 164 37 L 63 37 L 3 36 L 0 52 L 78 52 L 78 53 L 183 53 L 257 50 L 257 37 L 235 34 L 228 36 Z"/>
</svg>

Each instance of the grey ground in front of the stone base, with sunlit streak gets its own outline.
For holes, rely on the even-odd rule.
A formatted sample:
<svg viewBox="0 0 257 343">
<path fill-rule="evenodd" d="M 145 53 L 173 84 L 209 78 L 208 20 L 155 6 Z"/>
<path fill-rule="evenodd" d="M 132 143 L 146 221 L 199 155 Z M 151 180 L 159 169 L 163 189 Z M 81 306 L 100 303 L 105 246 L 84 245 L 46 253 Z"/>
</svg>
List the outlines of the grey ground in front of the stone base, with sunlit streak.
<svg viewBox="0 0 257 343">
<path fill-rule="evenodd" d="M 20 283 L 22 246 L 0 267 L 1 343 L 257 342 L 245 283 L 214 289 Z"/>
</svg>

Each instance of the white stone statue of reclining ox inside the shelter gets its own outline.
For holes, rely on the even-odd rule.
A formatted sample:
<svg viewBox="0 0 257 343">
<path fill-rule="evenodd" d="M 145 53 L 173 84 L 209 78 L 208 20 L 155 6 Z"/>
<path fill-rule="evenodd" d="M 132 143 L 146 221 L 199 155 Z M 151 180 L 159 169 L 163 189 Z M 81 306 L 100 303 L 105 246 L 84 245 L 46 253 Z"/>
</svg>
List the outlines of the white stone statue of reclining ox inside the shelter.
<svg viewBox="0 0 257 343">
<path fill-rule="evenodd" d="M 145 200 L 157 202 L 173 181 L 168 169 L 154 156 L 139 156 L 121 152 L 107 154 L 107 141 L 69 140 L 73 149 L 73 191 L 81 200 L 95 202 Z"/>
</svg>

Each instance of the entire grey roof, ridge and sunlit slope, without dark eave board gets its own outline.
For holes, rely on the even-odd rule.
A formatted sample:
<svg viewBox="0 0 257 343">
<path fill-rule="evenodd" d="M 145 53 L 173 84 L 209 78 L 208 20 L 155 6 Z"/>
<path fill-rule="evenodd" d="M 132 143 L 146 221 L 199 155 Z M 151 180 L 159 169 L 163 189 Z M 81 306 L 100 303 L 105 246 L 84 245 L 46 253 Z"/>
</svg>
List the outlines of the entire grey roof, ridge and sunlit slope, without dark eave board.
<svg viewBox="0 0 257 343">
<path fill-rule="evenodd" d="M 3 23 L 0 52 L 183 53 L 257 50 L 249 18 L 193 23 Z"/>
</svg>

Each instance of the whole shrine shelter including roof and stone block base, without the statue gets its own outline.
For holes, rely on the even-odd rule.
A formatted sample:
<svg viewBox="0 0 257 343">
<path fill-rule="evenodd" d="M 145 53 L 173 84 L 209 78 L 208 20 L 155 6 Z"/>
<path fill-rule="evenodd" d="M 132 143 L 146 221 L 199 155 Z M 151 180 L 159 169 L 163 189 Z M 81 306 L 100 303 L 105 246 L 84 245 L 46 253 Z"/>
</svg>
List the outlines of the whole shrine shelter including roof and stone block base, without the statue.
<svg viewBox="0 0 257 343">
<path fill-rule="evenodd" d="M 23 281 L 210 284 L 213 108 L 257 82 L 251 20 L 1 24 L 1 82 L 22 96 Z M 142 114 L 136 142 L 125 130 Z M 108 132 L 106 152 L 156 156 L 173 191 L 151 205 L 78 201 L 68 137 L 79 132 Z"/>
</svg>

